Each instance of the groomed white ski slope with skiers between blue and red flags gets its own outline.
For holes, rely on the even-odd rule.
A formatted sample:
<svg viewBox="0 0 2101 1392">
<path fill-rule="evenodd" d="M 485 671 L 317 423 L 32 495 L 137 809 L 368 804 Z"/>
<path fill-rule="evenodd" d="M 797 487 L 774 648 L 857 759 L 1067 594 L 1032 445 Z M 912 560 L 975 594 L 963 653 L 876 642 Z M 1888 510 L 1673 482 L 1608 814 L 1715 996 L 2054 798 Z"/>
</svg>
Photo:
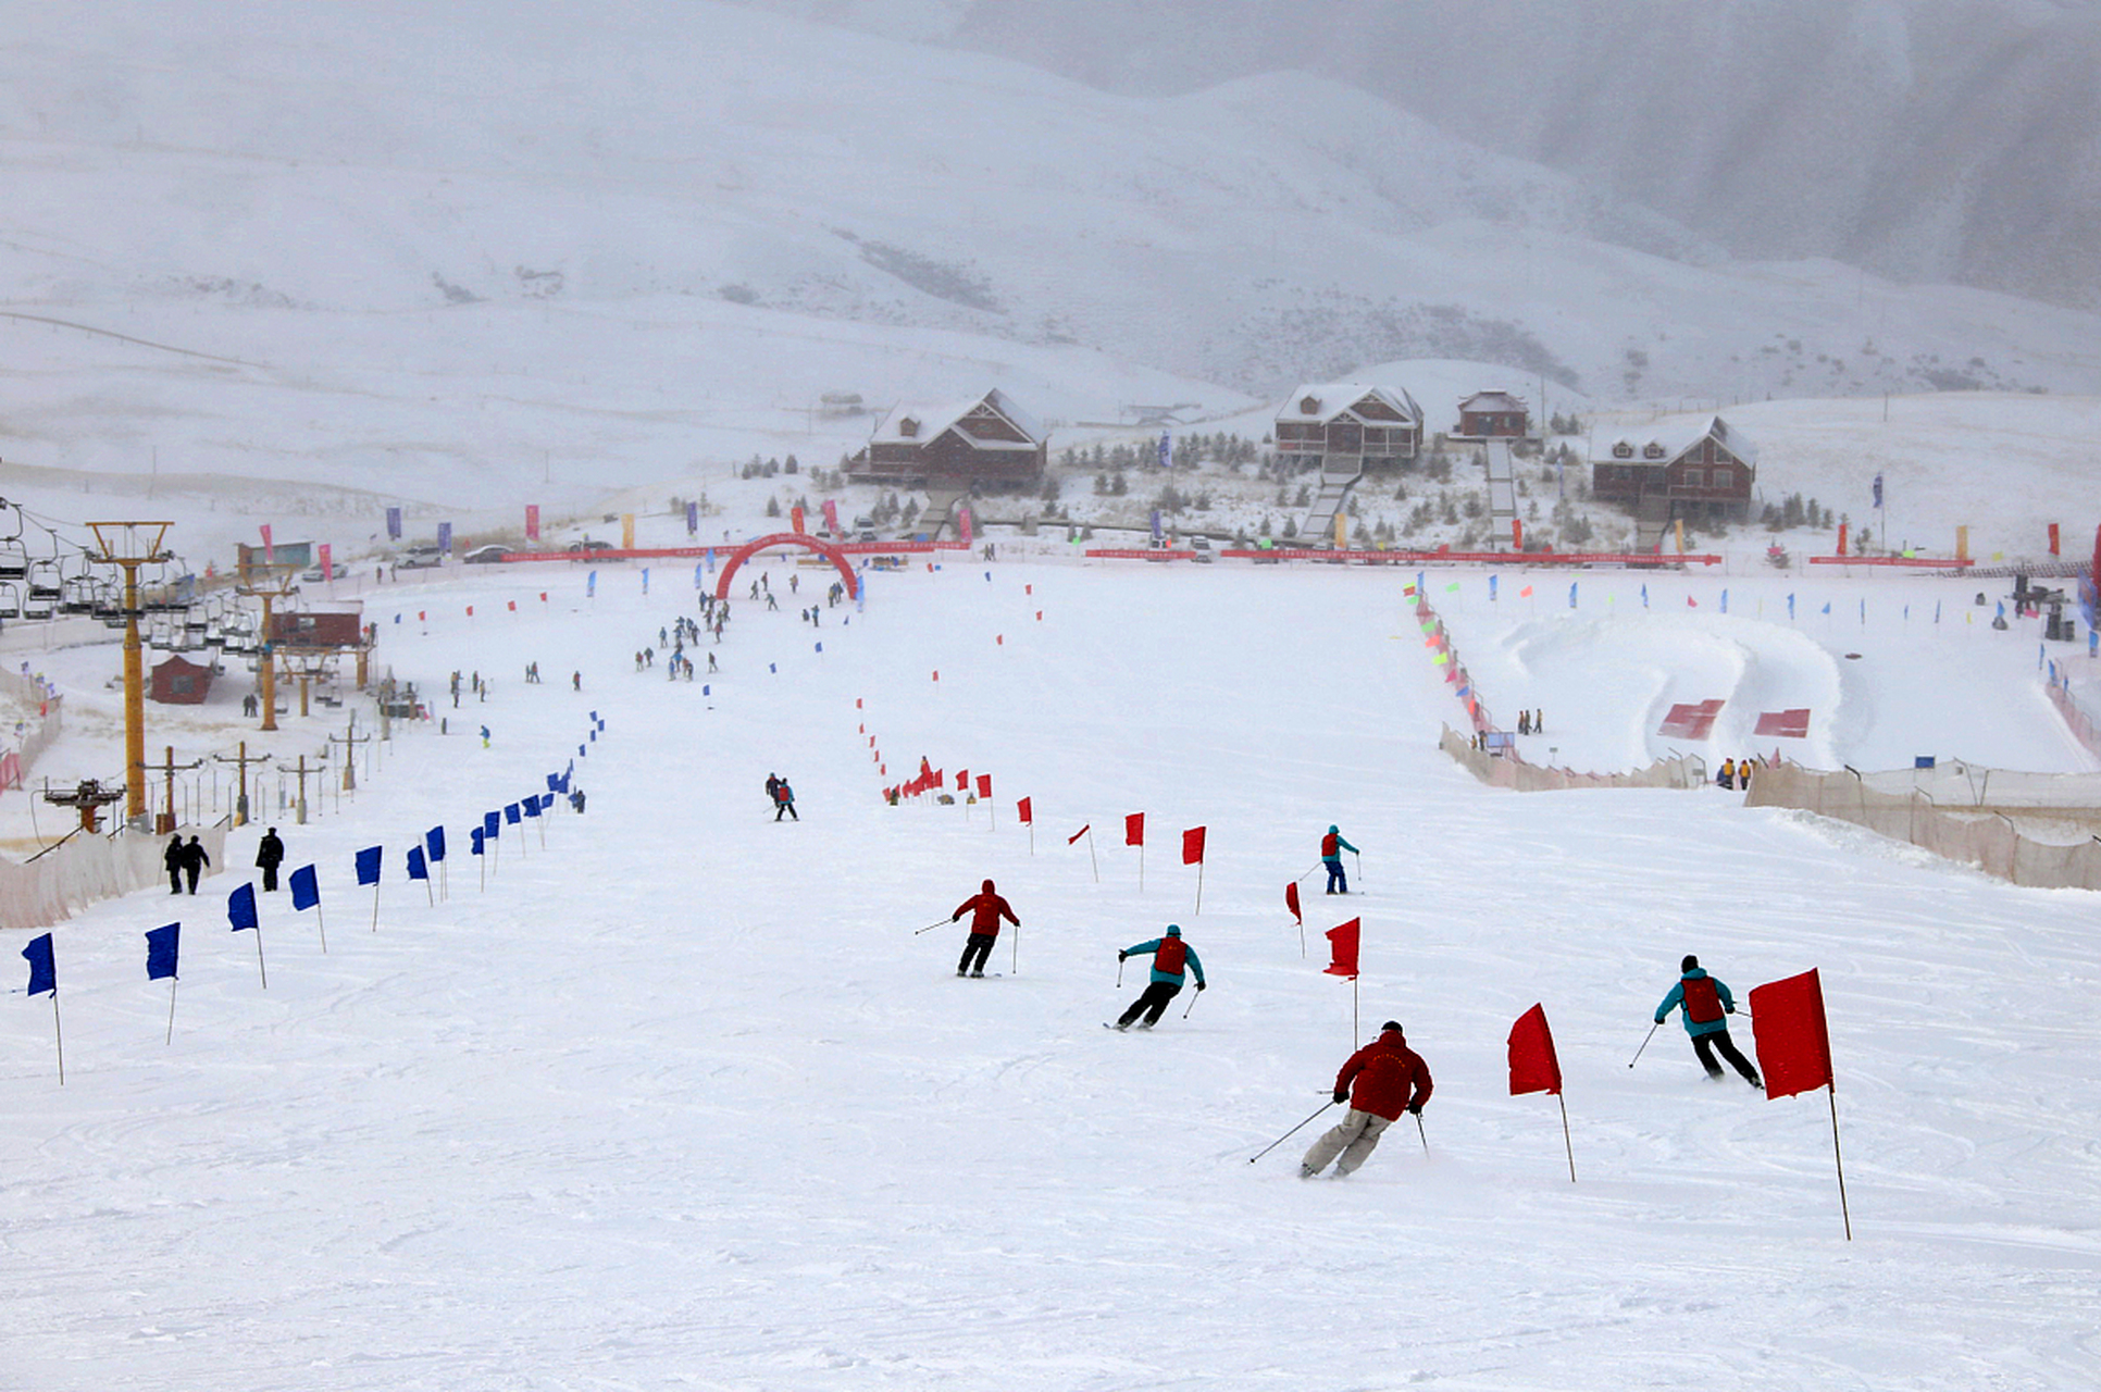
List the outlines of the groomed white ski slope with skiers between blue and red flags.
<svg viewBox="0 0 2101 1392">
<path fill-rule="evenodd" d="M 763 569 L 779 590 L 790 567 Z M 494 695 L 445 710 L 450 737 L 401 731 L 340 815 L 284 827 L 290 865 L 321 867 L 328 953 L 265 897 L 261 989 L 225 922 L 240 873 L 82 915 L 57 930 L 63 1090 L 48 999 L 0 1001 L 4 1386 L 2093 1386 L 2095 897 L 1712 789 L 1483 789 L 1435 750 L 1452 699 L 1395 573 L 950 563 L 878 575 L 817 630 L 794 611 L 830 571 L 803 577 L 779 613 L 735 607 L 712 695 L 632 672 L 689 611 L 664 571 L 651 596 L 620 567 L 595 600 L 580 569 L 376 596 L 395 672 L 479 670 Z M 1595 722 L 1641 745 L 1651 695 L 1557 649 L 1605 619 L 1542 605 L 1504 638 L 1471 603 L 1452 624 L 1483 682 L 1504 651 L 1557 739 Z M 1685 619 L 1622 592 L 1609 624 L 1630 647 Z M 1702 642 L 1729 642 L 1719 615 Z M 1912 687 L 1943 684 L 1979 735 L 2034 701 L 2017 661 L 1962 676 L 1990 659 L 1946 632 L 1876 651 L 1817 678 L 1857 684 L 1874 722 Z M 990 773 L 994 802 L 885 806 L 868 735 L 893 781 L 924 754 L 950 783 Z M 588 813 L 550 817 L 544 850 L 506 827 L 479 890 L 469 823 L 578 743 Z M 800 823 L 771 821 L 769 771 Z M 1139 810 L 1143 892 L 1120 836 Z M 1282 890 L 1330 821 L 1364 848 L 1361 892 L 1307 880 L 1303 957 Z M 433 823 L 435 909 L 401 878 Z M 1086 823 L 1093 861 L 1065 842 Z M 368 844 L 376 932 L 351 884 Z M 962 928 L 912 930 L 985 876 L 1019 949 L 1008 930 L 1004 978 L 956 980 Z M 1403 1123 L 1357 1176 L 1301 1182 L 1326 1119 L 1248 1157 L 1353 1046 L 1351 987 L 1319 970 L 1349 915 L 1361 1033 L 1401 1020 L 1435 1071 L 1429 1146 Z M 141 934 L 170 918 L 164 1046 Z M 1170 922 L 1212 989 L 1158 1031 L 1103 1031 L 1143 976 L 1118 991 L 1114 951 Z M 1822 970 L 1853 1243 L 1822 1094 L 1710 1085 L 1677 1022 L 1628 1069 L 1687 951 L 1740 999 Z M 1576 1184 L 1555 1102 L 1504 1090 L 1534 1001 Z"/>
</svg>

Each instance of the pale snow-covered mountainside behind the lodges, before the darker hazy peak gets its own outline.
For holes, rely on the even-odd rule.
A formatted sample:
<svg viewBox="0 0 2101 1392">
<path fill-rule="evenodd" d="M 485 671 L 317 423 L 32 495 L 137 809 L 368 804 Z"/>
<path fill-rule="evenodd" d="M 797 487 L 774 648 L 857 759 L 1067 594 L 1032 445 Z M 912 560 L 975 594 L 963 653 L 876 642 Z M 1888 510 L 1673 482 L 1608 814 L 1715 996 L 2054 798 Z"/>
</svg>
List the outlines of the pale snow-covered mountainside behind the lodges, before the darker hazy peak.
<svg viewBox="0 0 2101 1392">
<path fill-rule="evenodd" d="M 985 15 L 15 6 L 0 483 L 372 531 L 836 462 L 840 393 L 1072 443 L 1431 357 L 1635 409 L 2101 391 L 2080 311 L 1731 260 L 1343 78 L 1105 92 L 956 46 Z"/>
</svg>

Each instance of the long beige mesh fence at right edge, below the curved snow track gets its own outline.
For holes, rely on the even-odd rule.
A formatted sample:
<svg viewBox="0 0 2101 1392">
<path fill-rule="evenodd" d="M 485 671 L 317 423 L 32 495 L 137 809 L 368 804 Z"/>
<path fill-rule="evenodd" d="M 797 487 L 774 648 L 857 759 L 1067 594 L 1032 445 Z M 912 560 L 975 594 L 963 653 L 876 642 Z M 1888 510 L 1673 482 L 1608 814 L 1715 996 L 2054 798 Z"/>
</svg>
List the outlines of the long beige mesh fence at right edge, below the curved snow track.
<svg viewBox="0 0 2101 1392">
<path fill-rule="evenodd" d="M 1746 806 L 1786 806 L 1910 842 L 2032 888 L 2101 890 L 2101 777 L 1971 764 L 1824 773 L 1775 762 Z"/>
</svg>

